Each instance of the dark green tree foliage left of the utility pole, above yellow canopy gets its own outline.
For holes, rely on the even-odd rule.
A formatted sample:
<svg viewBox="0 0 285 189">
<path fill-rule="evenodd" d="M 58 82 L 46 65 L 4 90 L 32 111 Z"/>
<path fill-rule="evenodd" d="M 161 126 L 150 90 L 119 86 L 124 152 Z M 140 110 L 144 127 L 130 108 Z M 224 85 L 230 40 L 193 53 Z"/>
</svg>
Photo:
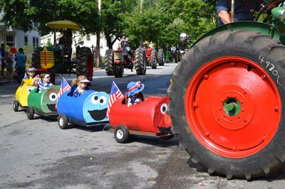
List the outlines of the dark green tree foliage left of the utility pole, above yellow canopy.
<svg viewBox="0 0 285 189">
<path fill-rule="evenodd" d="M 43 34 L 50 29 L 46 23 L 71 20 L 83 26 L 83 32 L 95 33 L 99 24 L 97 4 L 93 0 L 0 0 L 5 26 L 24 31 L 38 30 Z"/>
</svg>

